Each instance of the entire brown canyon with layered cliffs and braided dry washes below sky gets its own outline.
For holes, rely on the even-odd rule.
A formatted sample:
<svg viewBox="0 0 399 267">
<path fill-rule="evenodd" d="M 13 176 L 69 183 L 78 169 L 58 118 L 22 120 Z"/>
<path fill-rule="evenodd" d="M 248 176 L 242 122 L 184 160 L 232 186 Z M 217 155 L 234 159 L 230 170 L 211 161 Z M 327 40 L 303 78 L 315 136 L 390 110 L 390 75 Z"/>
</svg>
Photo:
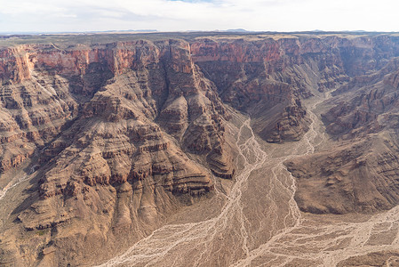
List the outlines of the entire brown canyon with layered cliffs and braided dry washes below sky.
<svg viewBox="0 0 399 267">
<path fill-rule="evenodd" d="M 399 35 L 0 40 L 0 264 L 399 264 Z"/>
</svg>

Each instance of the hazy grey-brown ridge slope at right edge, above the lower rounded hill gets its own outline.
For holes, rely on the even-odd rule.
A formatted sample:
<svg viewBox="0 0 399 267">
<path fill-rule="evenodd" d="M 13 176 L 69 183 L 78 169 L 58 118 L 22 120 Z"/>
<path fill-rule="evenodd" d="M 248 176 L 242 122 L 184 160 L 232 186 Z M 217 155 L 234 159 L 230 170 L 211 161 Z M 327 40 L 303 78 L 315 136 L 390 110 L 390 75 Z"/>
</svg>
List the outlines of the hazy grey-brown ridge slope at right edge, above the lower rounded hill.
<svg viewBox="0 0 399 267">
<path fill-rule="evenodd" d="M 348 139 L 376 133 L 382 129 L 379 115 L 395 108 L 398 101 L 397 69 L 399 61 L 367 76 L 354 77 L 333 94 L 337 104 L 325 114 L 327 132 L 339 139 Z M 349 98 L 349 101 L 348 101 Z"/>
</svg>

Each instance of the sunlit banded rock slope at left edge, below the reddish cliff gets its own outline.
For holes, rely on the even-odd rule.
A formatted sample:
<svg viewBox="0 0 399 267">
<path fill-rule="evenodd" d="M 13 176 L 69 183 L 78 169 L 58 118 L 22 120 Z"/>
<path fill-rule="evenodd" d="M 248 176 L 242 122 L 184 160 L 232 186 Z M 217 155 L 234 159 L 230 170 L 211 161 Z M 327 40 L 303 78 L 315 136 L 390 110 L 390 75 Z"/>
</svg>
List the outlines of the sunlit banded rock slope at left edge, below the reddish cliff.
<svg viewBox="0 0 399 267">
<path fill-rule="evenodd" d="M 1 88 L 0 170 L 18 166 L 51 142 L 76 116 L 78 104 L 68 93 L 65 78 L 33 77 Z"/>
</svg>

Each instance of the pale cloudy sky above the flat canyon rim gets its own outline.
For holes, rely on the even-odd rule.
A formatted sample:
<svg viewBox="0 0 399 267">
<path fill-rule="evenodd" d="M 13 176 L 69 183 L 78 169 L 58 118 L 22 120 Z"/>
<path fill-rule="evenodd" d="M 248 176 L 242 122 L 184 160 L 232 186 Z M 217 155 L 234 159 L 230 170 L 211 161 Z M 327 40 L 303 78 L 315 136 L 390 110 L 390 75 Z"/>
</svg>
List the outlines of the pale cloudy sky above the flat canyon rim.
<svg viewBox="0 0 399 267">
<path fill-rule="evenodd" d="M 0 0 L 0 32 L 399 31 L 397 0 Z"/>
</svg>

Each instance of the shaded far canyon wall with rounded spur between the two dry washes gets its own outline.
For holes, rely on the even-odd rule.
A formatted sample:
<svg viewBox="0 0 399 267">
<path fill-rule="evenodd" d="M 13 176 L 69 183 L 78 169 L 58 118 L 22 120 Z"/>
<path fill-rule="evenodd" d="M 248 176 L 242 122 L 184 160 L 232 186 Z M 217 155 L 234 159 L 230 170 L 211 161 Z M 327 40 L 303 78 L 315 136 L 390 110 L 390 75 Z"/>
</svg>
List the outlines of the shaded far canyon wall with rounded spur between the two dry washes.
<svg viewBox="0 0 399 267">
<path fill-rule="evenodd" d="M 309 88 L 321 92 L 335 88 L 399 54 L 397 42 L 387 36 L 203 38 L 190 47 L 222 100 L 249 112 L 255 118 L 254 129 L 267 142 L 295 141 L 307 132 L 300 97 L 311 96 Z"/>
</svg>

